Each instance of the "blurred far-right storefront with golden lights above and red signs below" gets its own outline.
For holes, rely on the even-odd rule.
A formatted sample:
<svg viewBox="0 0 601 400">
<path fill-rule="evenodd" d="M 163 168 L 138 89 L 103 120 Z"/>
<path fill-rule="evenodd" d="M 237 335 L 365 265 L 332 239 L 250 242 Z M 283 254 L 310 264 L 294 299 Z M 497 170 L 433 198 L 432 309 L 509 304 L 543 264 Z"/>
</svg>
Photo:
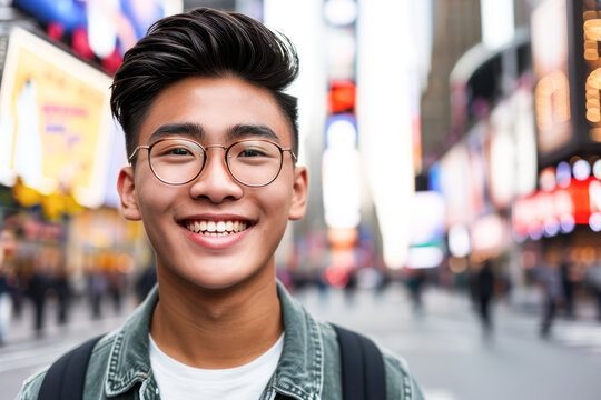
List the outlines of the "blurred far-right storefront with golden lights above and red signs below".
<svg viewBox="0 0 601 400">
<path fill-rule="evenodd" d="M 600 11 L 597 2 L 545 0 L 532 12 L 538 187 L 512 206 L 524 258 L 556 254 L 577 294 L 601 258 Z"/>
</svg>

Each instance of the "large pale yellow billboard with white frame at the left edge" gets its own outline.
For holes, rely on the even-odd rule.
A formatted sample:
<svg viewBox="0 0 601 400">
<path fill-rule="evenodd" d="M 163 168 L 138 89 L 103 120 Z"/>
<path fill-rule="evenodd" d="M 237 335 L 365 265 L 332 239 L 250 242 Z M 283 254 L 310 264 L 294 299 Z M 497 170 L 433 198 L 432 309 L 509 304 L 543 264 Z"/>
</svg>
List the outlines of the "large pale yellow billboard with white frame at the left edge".
<svg viewBox="0 0 601 400">
<path fill-rule="evenodd" d="M 110 159 L 110 78 L 35 34 L 10 36 L 0 87 L 0 182 L 72 193 L 87 207 L 105 197 Z"/>
</svg>

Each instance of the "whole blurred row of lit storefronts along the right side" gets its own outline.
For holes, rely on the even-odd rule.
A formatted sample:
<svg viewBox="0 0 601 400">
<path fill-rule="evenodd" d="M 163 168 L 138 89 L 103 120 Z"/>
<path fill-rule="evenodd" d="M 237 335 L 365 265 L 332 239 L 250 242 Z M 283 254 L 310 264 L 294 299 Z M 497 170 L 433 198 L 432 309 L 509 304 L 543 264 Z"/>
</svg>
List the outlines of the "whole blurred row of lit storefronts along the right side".
<svg viewBox="0 0 601 400">
<path fill-rule="evenodd" d="M 594 4 L 541 1 L 530 29 L 494 49 L 477 44 L 456 63 L 449 150 L 428 171 L 430 189 L 444 197 L 454 273 L 492 258 L 525 288 L 553 253 L 585 286 L 601 239 Z"/>
</svg>

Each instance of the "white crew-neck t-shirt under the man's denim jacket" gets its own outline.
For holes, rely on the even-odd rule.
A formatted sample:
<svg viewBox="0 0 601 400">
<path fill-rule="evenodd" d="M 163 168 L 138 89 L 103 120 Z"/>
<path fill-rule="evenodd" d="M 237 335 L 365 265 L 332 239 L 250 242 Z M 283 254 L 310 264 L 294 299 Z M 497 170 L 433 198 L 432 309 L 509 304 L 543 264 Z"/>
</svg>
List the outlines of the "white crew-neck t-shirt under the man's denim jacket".
<svg viewBox="0 0 601 400">
<path fill-rule="evenodd" d="M 249 363 L 228 369 L 186 366 L 164 353 L 150 338 L 150 366 L 161 399 L 165 400 L 257 400 L 274 373 L 284 333 L 265 353 Z"/>
</svg>

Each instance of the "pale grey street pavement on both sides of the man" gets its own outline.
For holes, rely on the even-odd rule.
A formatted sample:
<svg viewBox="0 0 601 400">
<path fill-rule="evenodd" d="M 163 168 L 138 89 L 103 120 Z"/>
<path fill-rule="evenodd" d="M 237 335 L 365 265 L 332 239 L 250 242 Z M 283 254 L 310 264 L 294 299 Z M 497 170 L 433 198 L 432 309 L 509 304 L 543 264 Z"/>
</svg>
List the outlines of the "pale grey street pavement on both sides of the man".
<svg viewBox="0 0 601 400">
<path fill-rule="evenodd" d="M 601 393 L 601 323 L 589 318 L 558 318 L 548 340 L 539 337 L 539 314 L 499 302 L 493 308 L 494 333 L 482 336 L 470 301 L 428 288 L 415 312 L 398 286 L 382 293 L 357 290 L 348 297 L 331 289 L 295 296 L 319 319 L 355 328 L 402 354 L 428 400 L 578 399 Z M 30 310 L 13 323 L 0 348 L 0 400 L 13 399 L 22 380 L 87 337 L 117 327 L 135 307 L 121 313 L 104 304 L 104 317 L 90 319 L 88 303 L 73 307 L 65 327 L 55 323 L 49 304 L 43 338 L 36 339 Z"/>
</svg>

